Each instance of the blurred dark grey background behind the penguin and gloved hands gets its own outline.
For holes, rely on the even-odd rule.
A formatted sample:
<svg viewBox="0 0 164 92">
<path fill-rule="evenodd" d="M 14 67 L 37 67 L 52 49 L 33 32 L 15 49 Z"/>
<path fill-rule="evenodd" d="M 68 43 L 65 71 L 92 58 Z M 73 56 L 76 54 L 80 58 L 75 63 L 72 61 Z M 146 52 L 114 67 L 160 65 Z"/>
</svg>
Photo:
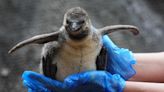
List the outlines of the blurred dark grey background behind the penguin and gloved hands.
<svg viewBox="0 0 164 92">
<path fill-rule="evenodd" d="M 87 10 L 95 27 L 131 24 L 140 35 L 116 32 L 110 36 L 133 52 L 164 51 L 164 0 L 0 0 L 0 92 L 27 92 L 21 74 L 38 71 L 42 45 L 30 45 L 9 55 L 16 43 L 58 30 L 67 9 Z"/>
</svg>

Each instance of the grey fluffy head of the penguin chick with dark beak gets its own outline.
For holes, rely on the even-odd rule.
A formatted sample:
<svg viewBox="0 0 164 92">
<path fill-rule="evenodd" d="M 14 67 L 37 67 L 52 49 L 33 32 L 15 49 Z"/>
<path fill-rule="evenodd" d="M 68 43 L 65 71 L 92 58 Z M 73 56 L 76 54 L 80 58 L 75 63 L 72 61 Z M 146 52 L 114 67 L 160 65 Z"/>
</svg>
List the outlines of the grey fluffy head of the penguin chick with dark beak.
<svg viewBox="0 0 164 92">
<path fill-rule="evenodd" d="M 64 27 L 73 40 L 87 37 L 91 27 L 87 12 L 80 7 L 69 9 L 64 16 Z"/>
</svg>

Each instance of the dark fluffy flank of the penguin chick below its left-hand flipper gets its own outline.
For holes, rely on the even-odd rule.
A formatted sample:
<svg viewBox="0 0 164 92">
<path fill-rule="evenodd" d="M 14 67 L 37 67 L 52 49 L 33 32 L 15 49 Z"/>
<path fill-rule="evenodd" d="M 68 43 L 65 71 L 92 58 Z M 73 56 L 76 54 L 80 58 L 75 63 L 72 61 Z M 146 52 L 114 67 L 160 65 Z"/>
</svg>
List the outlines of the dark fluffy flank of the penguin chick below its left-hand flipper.
<svg viewBox="0 0 164 92">
<path fill-rule="evenodd" d="M 43 48 L 43 53 L 41 57 L 41 63 L 42 63 L 42 71 L 43 74 L 47 77 L 50 77 L 52 79 L 55 79 L 56 72 L 57 72 L 57 64 L 54 62 L 54 58 L 56 58 L 57 54 L 57 43 L 52 42 L 48 43 L 44 48 Z"/>
</svg>

